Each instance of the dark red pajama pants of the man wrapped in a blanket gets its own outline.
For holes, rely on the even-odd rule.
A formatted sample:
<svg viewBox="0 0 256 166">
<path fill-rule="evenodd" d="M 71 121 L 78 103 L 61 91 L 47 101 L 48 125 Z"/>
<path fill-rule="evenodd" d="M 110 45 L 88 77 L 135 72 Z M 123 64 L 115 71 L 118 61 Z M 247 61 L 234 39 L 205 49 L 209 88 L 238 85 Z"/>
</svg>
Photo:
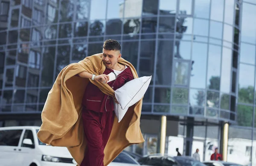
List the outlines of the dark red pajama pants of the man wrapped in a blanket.
<svg viewBox="0 0 256 166">
<path fill-rule="evenodd" d="M 80 166 L 104 166 L 104 149 L 111 134 L 114 115 L 114 111 L 83 110 L 82 119 L 87 148 Z"/>
</svg>

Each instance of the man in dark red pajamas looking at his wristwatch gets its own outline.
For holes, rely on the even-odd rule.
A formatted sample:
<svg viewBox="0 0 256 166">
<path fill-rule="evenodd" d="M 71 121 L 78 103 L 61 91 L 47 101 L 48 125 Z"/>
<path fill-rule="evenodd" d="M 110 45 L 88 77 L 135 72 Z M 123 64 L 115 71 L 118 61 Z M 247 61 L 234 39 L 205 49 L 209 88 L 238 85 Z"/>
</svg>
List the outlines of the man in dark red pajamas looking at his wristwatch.
<svg viewBox="0 0 256 166">
<path fill-rule="evenodd" d="M 107 83 L 113 90 L 119 89 L 125 83 L 133 80 L 129 66 L 118 63 L 121 58 L 121 46 L 116 40 L 106 40 L 103 45 L 102 61 L 106 66 L 101 75 L 81 72 L 79 77 L 89 78 Z M 113 72 L 116 79 L 108 82 L 108 74 Z M 82 100 L 84 109 L 82 120 L 84 134 L 87 140 L 87 149 L 80 166 L 104 166 L 104 149 L 111 134 L 114 121 L 114 102 L 116 99 L 104 94 L 96 85 L 89 81 Z"/>
</svg>

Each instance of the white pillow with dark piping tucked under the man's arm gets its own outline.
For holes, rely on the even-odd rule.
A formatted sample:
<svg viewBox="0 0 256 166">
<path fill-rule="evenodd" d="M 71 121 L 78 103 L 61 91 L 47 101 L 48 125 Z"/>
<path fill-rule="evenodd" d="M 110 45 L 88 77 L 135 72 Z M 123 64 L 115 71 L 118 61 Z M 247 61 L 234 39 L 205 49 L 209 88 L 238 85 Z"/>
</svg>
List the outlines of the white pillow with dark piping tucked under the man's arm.
<svg viewBox="0 0 256 166">
<path fill-rule="evenodd" d="M 152 76 L 135 78 L 116 89 L 115 96 L 119 104 L 114 104 L 114 111 L 118 122 L 122 120 L 130 106 L 133 106 L 144 96 Z"/>
</svg>

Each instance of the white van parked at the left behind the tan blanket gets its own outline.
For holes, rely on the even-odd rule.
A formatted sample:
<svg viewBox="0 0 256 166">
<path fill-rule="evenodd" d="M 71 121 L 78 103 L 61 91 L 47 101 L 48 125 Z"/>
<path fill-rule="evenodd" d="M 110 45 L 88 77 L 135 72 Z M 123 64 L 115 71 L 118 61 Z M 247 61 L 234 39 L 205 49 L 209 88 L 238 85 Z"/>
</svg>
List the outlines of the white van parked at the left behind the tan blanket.
<svg viewBox="0 0 256 166">
<path fill-rule="evenodd" d="M 0 127 L 0 166 L 76 166 L 66 147 L 47 146 L 38 126 Z"/>
</svg>

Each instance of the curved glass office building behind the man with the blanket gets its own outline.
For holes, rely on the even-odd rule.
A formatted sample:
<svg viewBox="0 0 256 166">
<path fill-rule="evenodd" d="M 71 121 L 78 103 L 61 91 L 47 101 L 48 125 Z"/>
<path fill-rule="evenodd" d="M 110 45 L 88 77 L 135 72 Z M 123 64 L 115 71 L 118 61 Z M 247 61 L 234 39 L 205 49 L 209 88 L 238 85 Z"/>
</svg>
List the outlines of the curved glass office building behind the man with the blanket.
<svg viewBox="0 0 256 166">
<path fill-rule="evenodd" d="M 58 73 L 116 39 L 139 76 L 145 143 L 256 166 L 256 0 L 0 0 L 0 126 L 41 125 Z M 227 128 L 226 128 L 227 129 Z"/>
</svg>

